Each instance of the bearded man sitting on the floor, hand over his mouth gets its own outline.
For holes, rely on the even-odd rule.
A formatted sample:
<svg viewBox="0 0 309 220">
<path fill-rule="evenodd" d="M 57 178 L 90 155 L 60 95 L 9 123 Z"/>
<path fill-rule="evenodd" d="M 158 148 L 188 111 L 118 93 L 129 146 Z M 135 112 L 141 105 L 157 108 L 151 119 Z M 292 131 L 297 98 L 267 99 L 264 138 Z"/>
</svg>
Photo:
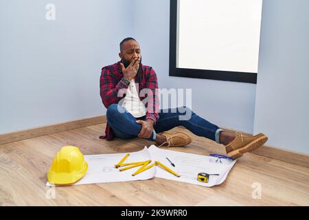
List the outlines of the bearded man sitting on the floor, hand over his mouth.
<svg viewBox="0 0 309 220">
<path fill-rule="evenodd" d="M 100 77 L 100 95 L 107 108 L 107 124 L 102 138 L 140 137 L 155 141 L 158 146 L 185 146 L 192 140 L 190 135 L 166 132 L 175 126 L 184 126 L 195 135 L 224 144 L 227 155 L 233 159 L 255 150 L 268 140 L 262 133 L 244 136 L 224 131 L 187 107 L 159 111 L 157 75 L 152 67 L 141 64 L 139 43 L 133 38 L 124 39 L 120 43 L 119 57 L 121 61 L 102 68 Z M 147 98 L 145 93 L 137 92 L 145 89 Z M 190 117 L 184 120 L 187 113 Z"/>
</svg>

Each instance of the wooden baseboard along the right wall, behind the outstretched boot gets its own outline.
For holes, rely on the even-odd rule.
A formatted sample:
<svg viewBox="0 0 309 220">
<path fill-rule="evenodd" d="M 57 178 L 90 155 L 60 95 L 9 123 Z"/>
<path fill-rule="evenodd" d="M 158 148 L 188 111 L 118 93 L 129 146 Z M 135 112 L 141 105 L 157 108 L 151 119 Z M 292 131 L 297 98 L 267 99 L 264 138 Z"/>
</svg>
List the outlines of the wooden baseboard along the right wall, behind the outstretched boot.
<svg viewBox="0 0 309 220">
<path fill-rule="evenodd" d="M 226 129 L 226 128 L 223 129 L 225 129 L 225 131 L 235 132 L 235 130 L 232 129 Z M 244 135 L 252 135 L 251 133 L 245 133 L 242 131 L 238 132 Z M 297 164 L 300 166 L 309 167 L 309 155 L 306 155 L 304 153 L 298 153 L 295 151 L 289 151 L 283 148 L 278 148 L 277 146 L 263 145 L 260 148 L 256 149 L 255 151 L 252 151 L 252 153 L 272 159 L 279 159 L 281 161 L 288 162 L 291 164 Z"/>
</svg>

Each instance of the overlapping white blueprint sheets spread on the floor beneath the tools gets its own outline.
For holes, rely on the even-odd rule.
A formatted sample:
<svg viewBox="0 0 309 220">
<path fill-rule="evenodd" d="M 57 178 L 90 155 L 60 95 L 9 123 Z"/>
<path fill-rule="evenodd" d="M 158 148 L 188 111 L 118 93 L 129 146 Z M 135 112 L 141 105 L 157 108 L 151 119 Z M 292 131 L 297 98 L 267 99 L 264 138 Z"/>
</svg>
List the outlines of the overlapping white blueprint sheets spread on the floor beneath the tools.
<svg viewBox="0 0 309 220">
<path fill-rule="evenodd" d="M 227 178 L 229 170 L 231 170 L 233 165 L 236 163 L 236 160 L 231 162 L 231 164 L 211 162 L 209 159 L 210 157 L 208 156 L 165 150 L 157 148 L 157 146 L 152 144 L 149 148 L 145 146 L 142 151 L 130 153 L 130 156 L 124 163 L 142 162 L 151 159 L 152 161 L 150 164 L 153 164 L 155 161 L 159 161 L 165 166 L 168 166 L 168 168 L 174 170 L 174 172 L 181 175 L 181 177 L 172 175 L 172 173 L 169 173 L 160 166 L 153 166 L 152 168 L 133 177 L 132 174 L 135 173 L 140 166 L 130 168 L 122 172 L 119 171 L 119 168 L 115 168 L 115 164 L 117 164 L 124 157 L 124 155 L 126 155 L 126 153 L 84 155 L 84 159 L 88 163 L 88 170 L 86 175 L 74 185 L 135 181 L 159 177 L 163 179 L 171 179 L 174 181 L 182 181 L 189 184 L 211 187 L 222 184 L 222 182 Z M 175 164 L 175 167 L 168 162 L 166 157 L 168 157 L 168 159 Z M 150 164 L 148 164 L 148 166 Z M 219 175 L 209 176 L 209 182 L 205 183 L 197 180 L 198 173 L 216 173 Z M 53 185 L 47 182 L 46 186 Z"/>
</svg>

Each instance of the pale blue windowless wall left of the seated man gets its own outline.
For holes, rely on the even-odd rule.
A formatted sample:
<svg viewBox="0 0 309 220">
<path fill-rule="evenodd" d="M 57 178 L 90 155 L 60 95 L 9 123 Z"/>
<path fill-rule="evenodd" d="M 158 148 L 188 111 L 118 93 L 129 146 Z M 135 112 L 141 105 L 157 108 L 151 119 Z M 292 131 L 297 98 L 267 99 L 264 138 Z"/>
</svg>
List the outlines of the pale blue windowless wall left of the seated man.
<svg viewBox="0 0 309 220">
<path fill-rule="evenodd" d="M 0 1 L 0 133 L 104 115 L 100 70 L 119 60 L 132 10 L 126 0 Z"/>
</svg>

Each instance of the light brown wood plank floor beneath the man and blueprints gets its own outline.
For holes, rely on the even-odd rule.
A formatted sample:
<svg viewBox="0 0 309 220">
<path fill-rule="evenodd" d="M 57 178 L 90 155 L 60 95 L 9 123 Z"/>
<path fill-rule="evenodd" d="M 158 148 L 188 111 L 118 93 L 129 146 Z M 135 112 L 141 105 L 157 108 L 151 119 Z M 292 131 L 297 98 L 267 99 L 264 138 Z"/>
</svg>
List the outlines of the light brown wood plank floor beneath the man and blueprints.
<svg viewBox="0 0 309 220">
<path fill-rule="evenodd" d="M 45 188 L 56 152 L 75 145 L 84 155 L 139 151 L 154 142 L 139 138 L 100 140 L 105 124 L 0 145 L 1 206 L 309 206 L 309 168 L 247 153 L 220 186 L 207 188 L 167 179 Z M 173 129 L 183 130 L 181 128 Z M 190 133 L 190 131 L 187 131 Z M 224 146 L 192 135 L 174 151 L 208 155 Z M 262 189 L 253 199 L 253 183 Z"/>
</svg>

